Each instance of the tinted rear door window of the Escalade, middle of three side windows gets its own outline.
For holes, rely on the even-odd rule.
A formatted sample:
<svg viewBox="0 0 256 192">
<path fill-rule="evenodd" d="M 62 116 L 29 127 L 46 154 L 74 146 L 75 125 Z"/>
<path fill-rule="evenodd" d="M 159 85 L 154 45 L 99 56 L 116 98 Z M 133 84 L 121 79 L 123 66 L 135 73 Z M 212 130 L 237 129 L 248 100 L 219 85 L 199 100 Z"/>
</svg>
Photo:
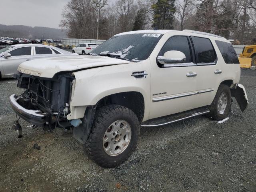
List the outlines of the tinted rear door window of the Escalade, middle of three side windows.
<svg viewBox="0 0 256 192">
<path fill-rule="evenodd" d="M 214 63 L 216 55 L 210 39 L 194 37 L 197 63 Z"/>
</svg>

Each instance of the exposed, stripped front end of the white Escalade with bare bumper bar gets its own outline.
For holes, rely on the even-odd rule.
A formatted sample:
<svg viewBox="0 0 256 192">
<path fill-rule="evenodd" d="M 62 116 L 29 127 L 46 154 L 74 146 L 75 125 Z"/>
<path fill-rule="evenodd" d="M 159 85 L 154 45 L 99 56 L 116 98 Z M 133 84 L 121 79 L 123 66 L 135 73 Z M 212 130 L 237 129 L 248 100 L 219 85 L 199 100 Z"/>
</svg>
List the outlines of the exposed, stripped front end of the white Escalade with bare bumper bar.
<svg viewBox="0 0 256 192">
<path fill-rule="evenodd" d="M 73 74 L 42 78 L 18 72 L 14 77 L 18 79 L 17 86 L 24 89 L 23 94 L 10 96 L 10 104 L 18 116 L 44 130 L 71 127 L 66 116 L 70 113 Z"/>
</svg>

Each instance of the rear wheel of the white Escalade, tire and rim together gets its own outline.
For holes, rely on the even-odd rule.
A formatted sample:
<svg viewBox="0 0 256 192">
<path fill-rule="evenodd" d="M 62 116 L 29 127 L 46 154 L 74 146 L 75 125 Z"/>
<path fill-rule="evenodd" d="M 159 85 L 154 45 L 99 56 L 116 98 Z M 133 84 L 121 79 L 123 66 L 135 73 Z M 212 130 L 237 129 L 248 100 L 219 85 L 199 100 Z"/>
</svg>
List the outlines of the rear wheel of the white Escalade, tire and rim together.
<svg viewBox="0 0 256 192">
<path fill-rule="evenodd" d="M 231 92 L 227 85 L 220 84 L 218 91 L 210 105 L 210 116 L 214 120 L 222 120 L 228 116 L 231 108 Z"/>
</svg>

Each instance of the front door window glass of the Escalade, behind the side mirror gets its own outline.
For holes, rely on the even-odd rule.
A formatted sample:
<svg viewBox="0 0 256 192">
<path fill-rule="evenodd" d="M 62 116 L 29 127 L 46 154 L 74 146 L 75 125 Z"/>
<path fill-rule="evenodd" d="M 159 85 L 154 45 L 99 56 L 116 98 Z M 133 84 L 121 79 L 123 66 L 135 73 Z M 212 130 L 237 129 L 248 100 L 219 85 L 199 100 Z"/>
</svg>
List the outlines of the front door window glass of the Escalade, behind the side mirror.
<svg viewBox="0 0 256 192">
<path fill-rule="evenodd" d="M 171 37 L 164 44 L 163 48 L 159 52 L 159 56 L 164 56 L 164 53 L 167 51 L 180 51 L 186 56 L 186 63 L 191 61 L 190 47 L 188 44 L 188 38 L 186 36 L 174 36 Z"/>
</svg>

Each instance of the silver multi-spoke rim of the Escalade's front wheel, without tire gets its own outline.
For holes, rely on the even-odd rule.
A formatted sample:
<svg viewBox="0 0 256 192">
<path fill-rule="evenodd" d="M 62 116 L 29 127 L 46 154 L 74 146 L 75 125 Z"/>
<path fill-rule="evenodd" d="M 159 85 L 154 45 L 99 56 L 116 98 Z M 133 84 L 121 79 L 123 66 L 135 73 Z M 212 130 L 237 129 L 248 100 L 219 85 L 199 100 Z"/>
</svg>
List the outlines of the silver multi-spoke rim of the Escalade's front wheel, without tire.
<svg viewBox="0 0 256 192">
<path fill-rule="evenodd" d="M 117 156 L 126 150 L 130 143 L 132 130 L 125 120 L 117 120 L 108 126 L 103 136 L 103 148 L 106 154 Z"/>
</svg>

